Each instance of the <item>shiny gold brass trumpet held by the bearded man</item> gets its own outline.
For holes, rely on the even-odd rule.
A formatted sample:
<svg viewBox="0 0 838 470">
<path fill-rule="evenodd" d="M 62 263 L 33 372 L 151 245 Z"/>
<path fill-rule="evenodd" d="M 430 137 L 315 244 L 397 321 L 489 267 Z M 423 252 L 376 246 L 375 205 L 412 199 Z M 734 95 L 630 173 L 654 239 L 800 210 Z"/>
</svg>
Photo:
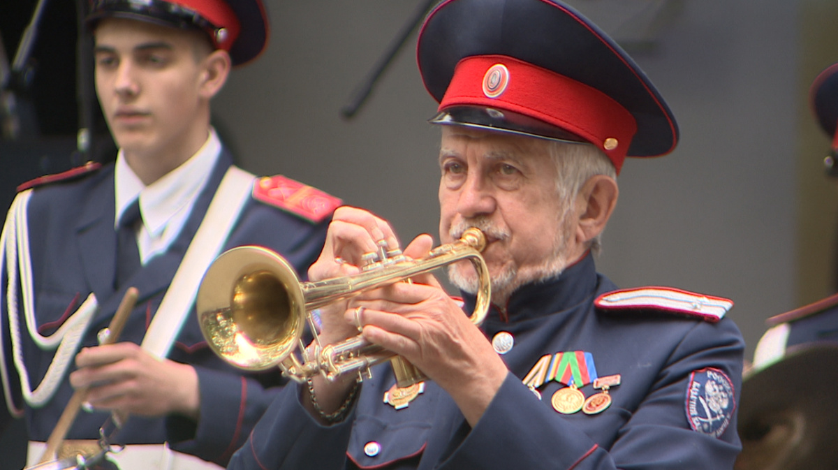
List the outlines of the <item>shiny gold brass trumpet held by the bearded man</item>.
<svg viewBox="0 0 838 470">
<path fill-rule="evenodd" d="M 410 364 L 395 364 L 395 359 L 401 358 L 360 335 L 323 348 L 312 311 L 468 259 L 479 281 L 470 320 L 479 325 L 486 318 L 491 297 L 489 269 L 480 256 L 485 246 L 483 232 L 470 228 L 460 240 L 437 246 L 422 259 L 388 258 L 382 250 L 380 259 L 358 274 L 313 282 L 301 282 L 294 268 L 272 250 L 233 248 L 213 261 L 201 281 L 196 301 L 198 323 L 215 354 L 240 369 L 279 366 L 297 382 L 316 374 L 334 380 L 349 372 L 363 380 L 369 376 L 370 366 L 394 359 L 398 385 L 412 385 L 422 379 L 410 372 L 414 369 Z M 302 341 L 307 321 L 314 335 L 308 348 Z M 302 360 L 297 359 L 295 349 L 300 349 Z"/>
</svg>

